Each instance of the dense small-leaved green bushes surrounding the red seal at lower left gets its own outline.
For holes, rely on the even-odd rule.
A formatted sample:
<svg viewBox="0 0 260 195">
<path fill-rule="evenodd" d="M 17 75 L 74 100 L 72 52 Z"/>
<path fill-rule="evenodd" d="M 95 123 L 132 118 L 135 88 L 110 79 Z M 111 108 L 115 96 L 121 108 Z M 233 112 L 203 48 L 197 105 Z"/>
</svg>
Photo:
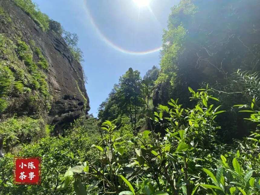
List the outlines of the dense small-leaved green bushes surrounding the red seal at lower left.
<svg viewBox="0 0 260 195">
<path fill-rule="evenodd" d="M 27 132 L 30 129 L 37 129 L 37 120 L 27 119 L 28 125 L 25 125 L 25 119 L 10 119 L 2 123 L 0 131 L 8 132 Z M 28 122 L 27 122 L 28 123 Z M 96 125 L 94 125 L 96 123 Z M 6 125 L 6 129 L 4 129 Z M 30 126 L 31 125 L 31 126 Z M 11 128 L 10 128 L 11 127 Z M 23 127 L 21 129 L 21 127 Z M 95 131 L 94 131 L 95 130 Z M 47 127 L 49 132 L 50 129 Z M 32 133 L 32 132 L 31 132 Z M 21 147 L 18 156 L 31 157 L 39 156 L 41 161 L 41 185 L 15 185 L 13 184 L 13 155 L 5 154 L 0 158 L 0 190 L 1 194 L 64 194 L 71 193 L 73 188 L 69 187 L 67 191 L 57 192 L 61 173 L 67 171 L 72 165 L 82 164 L 84 161 L 91 161 L 98 158 L 99 152 L 96 148 L 91 148 L 92 144 L 99 143 L 97 132 L 97 122 L 90 118 L 87 120 L 78 119 L 72 128 L 67 132 L 68 135 L 62 137 L 50 137 L 40 139 L 37 143 L 25 144 Z M 32 135 L 32 134 L 31 134 Z M 30 136 L 31 136 L 30 135 Z"/>
</svg>

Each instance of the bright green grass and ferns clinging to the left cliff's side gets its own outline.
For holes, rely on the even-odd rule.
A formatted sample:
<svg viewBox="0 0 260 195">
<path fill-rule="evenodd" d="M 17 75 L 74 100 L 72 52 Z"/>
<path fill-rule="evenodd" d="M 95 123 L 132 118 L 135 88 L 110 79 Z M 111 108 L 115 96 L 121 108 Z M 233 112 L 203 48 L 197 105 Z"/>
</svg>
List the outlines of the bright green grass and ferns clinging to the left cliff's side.
<svg viewBox="0 0 260 195">
<path fill-rule="evenodd" d="M 33 110 L 48 112 L 52 98 L 44 73 L 48 70 L 48 62 L 38 47 L 33 47 L 34 53 L 28 44 L 20 38 L 17 40 L 14 43 L 0 34 L 0 112 L 12 106 L 14 97 L 21 96 L 28 99 Z M 38 62 L 34 61 L 34 54 L 38 56 Z"/>
</svg>

